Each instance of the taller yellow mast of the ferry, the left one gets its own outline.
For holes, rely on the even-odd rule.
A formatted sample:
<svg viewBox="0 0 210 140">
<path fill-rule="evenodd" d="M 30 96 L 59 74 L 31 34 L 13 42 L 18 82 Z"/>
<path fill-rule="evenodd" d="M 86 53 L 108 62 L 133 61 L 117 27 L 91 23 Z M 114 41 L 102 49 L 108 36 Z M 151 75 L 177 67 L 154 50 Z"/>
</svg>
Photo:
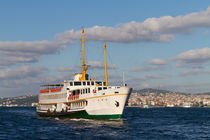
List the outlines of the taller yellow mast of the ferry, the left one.
<svg viewBox="0 0 210 140">
<path fill-rule="evenodd" d="M 84 41 L 84 29 L 82 28 L 82 78 L 81 80 L 86 80 L 85 75 L 87 71 L 87 67 L 85 64 L 85 41 Z"/>
</svg>

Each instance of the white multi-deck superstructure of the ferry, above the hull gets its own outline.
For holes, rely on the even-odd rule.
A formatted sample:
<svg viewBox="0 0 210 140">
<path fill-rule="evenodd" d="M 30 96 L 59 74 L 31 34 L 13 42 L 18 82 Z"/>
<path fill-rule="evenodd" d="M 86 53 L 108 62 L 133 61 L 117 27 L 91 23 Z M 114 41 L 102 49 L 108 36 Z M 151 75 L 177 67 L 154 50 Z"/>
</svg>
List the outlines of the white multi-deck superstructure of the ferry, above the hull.
<svg viewBox="0 0 210 140">
<path fill-rule="evenodd" d="M 57 102 L 63 102 L 63 107 L 66 109 L 82 109 L 88 105 L 87 98 L 95 96 L 106 96 L 111 94 L 119 94 L 120 86 L 106 86 L 104 81 L 75 81 L 65 80 L 59 84 L 41 85 L 39 103 L 42 106 L 39 110 L 55 110 Z M 103 99 L 101 100 L 103 102 Z M 59 112 L 59 110 L 56 110 Z"/>
</svg>

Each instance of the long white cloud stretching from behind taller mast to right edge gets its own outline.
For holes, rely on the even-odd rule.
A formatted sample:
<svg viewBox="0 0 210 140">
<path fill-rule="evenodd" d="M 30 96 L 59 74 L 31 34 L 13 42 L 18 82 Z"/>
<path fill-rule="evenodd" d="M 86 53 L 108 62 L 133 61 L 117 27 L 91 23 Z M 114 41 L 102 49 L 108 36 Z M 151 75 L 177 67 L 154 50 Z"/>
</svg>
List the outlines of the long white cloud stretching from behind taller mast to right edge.
<svg viewBox="0 0 210 140">
<path fill-rule="evenodd" d="M 115 27 L 93 26 L 85 30 L 87 40 L 110 42 L 168 42 L 174 34 L 189 34 L 193 29 L 210 27 L 210 7 L 205 11 L 184 16 L 148 18 L 144 22 L 131 21 Z M 81 30 L 57 34 L 55 39 L 71 43 L 81 38 Z"/>
</svg>

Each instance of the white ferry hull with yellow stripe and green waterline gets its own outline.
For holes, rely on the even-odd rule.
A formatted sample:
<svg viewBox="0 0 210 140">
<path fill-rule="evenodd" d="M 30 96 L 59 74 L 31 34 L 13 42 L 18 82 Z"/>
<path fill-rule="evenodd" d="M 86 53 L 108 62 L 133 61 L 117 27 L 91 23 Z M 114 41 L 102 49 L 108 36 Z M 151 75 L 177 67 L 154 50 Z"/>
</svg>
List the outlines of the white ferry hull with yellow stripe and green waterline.
<svg viewBox="0 0 210 140">
<path fill-rule="evenodd" d="M 100 95 L 100 93 L 93 94 L 92 97 L 80 98 L 69 103 L 79 103 L 86 101 L 87 105 L 81 105 L 80 107 L 74 107 L 71 105 L 71 109 L 41 109 L 37 108 L 37 114 L 43 117 L 59 117 L 59 118 L 87 118 L 87 119 L 120 119 L 122 118 L 123 110 L 128 100 L 131 89 L 127 87 L 121 87 L 121 93 Z M 64 102 L 66 103 L 66 102 Z M 56 103 L 57 107 L 64 103 Z M 68 102 L 67 102 L 68 103 Z M 46 105 L 46 103 L 44 104 Z"/>
</svg>

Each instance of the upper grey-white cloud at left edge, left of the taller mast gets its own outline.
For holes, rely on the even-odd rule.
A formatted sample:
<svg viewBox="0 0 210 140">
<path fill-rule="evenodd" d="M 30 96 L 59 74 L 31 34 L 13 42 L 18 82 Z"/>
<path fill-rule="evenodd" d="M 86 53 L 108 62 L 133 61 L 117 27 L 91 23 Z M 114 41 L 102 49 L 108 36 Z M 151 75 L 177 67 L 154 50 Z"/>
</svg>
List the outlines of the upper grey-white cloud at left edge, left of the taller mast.
<svg viewBox="0 0 210 140">
<path fill-rule="evenodd" d="M 38 62 L 42 55 L 53 54 L 63 50 L 66 46 L 58 42 L 2 42 L 0 41 L 0 68 L 17 63 Z"/>
</svg>

